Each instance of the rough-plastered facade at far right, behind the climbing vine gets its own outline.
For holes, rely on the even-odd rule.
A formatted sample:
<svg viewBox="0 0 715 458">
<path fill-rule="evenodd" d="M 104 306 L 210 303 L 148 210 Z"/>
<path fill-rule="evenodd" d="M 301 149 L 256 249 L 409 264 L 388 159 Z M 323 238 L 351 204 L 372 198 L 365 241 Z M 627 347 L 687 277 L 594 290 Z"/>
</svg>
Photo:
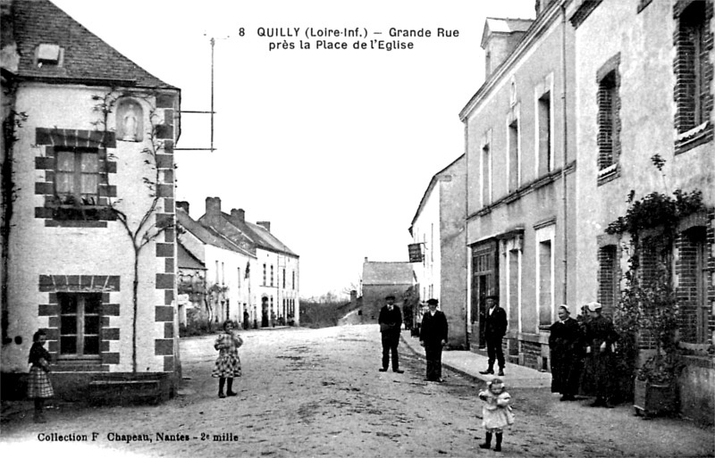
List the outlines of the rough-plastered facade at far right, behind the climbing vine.
<svg viewBox="0 0 715 458">
<path fill-rule="evenodd" d="M 576 38 L 578 113 L 576 300 L 597 299 L 607 312 L 618 304 L 633 234 L 621 237 L 606 229 L 626 214 L 629 195 L 701 191 L 706 210 L 677 221 L 674 243 L 663 248 L 681 310 L 681 409 L 712 422 L 713 2 L 574 2 L 569 20 Z M 662 171 L 654 166 L 656 156 L 665 161 Z M 648 276 L 654 262 L 650 254 L 640 256 Z M 642 359 L 652 353 L 646 338 L 640 347 Z"/>
</svg>

